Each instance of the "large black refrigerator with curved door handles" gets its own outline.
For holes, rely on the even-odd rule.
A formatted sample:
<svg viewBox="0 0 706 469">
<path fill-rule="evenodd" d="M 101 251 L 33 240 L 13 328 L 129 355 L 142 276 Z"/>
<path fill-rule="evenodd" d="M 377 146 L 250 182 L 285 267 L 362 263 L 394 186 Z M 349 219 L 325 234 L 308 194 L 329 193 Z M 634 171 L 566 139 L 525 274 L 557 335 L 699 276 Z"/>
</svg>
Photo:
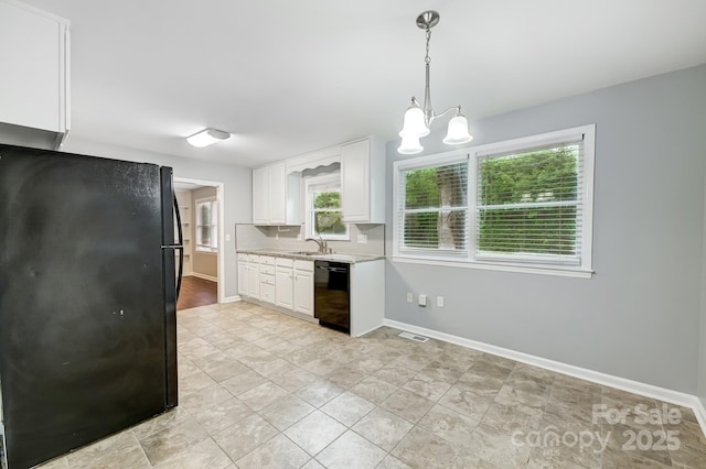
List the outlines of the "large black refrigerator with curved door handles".
<svg viewBox="0 0 706 469">
<path fill-rule="evenodd" d="M 9 469 L 176 405 L 174 203 L 170 167 L 0 145 Z"/>
</svg>

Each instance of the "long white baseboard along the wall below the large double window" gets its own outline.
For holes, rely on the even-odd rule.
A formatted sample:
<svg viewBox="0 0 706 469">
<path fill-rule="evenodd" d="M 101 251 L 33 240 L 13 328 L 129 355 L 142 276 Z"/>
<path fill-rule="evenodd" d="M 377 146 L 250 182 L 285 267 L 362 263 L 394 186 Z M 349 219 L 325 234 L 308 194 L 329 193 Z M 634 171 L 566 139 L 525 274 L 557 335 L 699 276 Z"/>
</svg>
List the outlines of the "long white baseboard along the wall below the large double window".
<svg viewBox="0 0 706 469">
<path fill-rule="evenodd" d="M 477 340 L 453 336 L 451 334 L 440 332 L 437 330 L 427 329 L 425 327 L 413 326 L 410 324 L 400 323 L 397 320 L 385 319 L 384 324 L 385 326 L 394 327 L 395 329 L 407 330 L 420 336 L 443 340 L 445 342 L 456 343 L 457 346 L 480 350 L 482 352 L 509 358 L 522 363 L 544 368 L 545 370 L 568 374 L 570 377 L 579 378 L 581 380 L 590 381 L 597 384 L 602 384 L 606 386 L 631 392 L 633 394 L 643 395 L 645 397 L 664 401 L 671 404 L 682 405 L 684 407 L 689 407 L 694 411 L 694 415 L 698 419 L 702 432 L 704 433 L 704 436 L 706 436 L 706 408 L 704 407 L 703 402 L 693 394 L 686 394 L 652 384 L 641 383 L 639 381 L 628 380 L 625 378 L 614 377 L 612 374 L 601 373 L 599 371 L 588 370 L 586 368 L 575 367 L 573 364 L 561 363 L 559 361 L 548 360 L 542 357 L 535 357 L 515 350 L 492 346 L 490 343 L 479 342 Z"/>
</svg>

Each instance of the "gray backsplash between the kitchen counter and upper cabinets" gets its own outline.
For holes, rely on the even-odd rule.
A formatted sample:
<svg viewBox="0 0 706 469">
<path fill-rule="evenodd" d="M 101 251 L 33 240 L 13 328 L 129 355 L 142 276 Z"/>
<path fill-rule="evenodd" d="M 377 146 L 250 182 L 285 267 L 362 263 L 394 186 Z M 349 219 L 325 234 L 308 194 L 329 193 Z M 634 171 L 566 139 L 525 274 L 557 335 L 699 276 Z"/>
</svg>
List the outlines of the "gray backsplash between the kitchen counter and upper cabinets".
<svg viewBox="0 0 706 469">
<path fill-rule="evenodd" d="M 327 241 L 333 252 L 385 255 L 384 225 L 350 225 L 350 241 Z M 359 243 L 359 234 L 367 236 L 367 243 Z M 236 250 L 281 249 L 287 251 L 315 251 L 315 242 L 304 241 L 304 227 L 235 226 Z"/>
</svg>

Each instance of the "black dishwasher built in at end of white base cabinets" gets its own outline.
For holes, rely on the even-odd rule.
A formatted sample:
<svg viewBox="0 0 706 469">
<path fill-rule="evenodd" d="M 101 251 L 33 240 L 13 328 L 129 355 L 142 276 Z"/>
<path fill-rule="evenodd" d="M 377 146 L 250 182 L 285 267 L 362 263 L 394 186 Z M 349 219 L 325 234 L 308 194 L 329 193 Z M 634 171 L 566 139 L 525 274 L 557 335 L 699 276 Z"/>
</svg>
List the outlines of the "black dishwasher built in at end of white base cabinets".
<svg viewBox="0 0 706 469">
<path fill-rule="evenodd" d="M 345 262 L 314 261 L 313 315 L 321 326 L 351 331 L 350 269 Z"/>
</svg>

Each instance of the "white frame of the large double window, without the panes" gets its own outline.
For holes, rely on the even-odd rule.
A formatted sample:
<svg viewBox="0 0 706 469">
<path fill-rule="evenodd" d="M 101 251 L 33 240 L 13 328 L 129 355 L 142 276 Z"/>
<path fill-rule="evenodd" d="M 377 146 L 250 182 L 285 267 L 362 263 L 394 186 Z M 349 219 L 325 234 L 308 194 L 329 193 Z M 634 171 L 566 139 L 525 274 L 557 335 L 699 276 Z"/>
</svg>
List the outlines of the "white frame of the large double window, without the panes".
<svg viewBox="0 0 706 469">
<path fill-rule="evenodd" d="M 581 229 L 577 230 L 577 237 L 580 237 L 581 251 L 580 262 L 559 263 L 553 262 L 552 259 L 542 257 L 528 258 L 520 260 L 520 257 L 509 257 L 503 254 L 477 255 L 478 232 L 477 232 L 477 185 L 479 160 L 489 155 L 531 151 L 544 145 L 556 143 L 565 143 L 571 139 L 582 135 L 582 193 L 581 193 Z M 394 163 L 393 171 L 393 261 L 448 265 L 469 269 L 484 269 L 495 271 L 510 271 L 523 273 L 536 273 L 547 275 L 563 275 L 590 279 L 592 276 L 592 221 L 593 221 L 593 173 L 595 173 L 595 140 L 596 124 L 581 126 L 555 132 L 547 132 L 520 139 L 506 140 L 501 142 L 488 143 L 482 145 L 469 146 L 460 150 L 453 150 L 435 155 L 424 155 L 413 159 L 398 160 Z M 438 166 L 441 164 L 460 161 L 463 157 L 469 159 L 468 175 L 468 251 L 466 253 L 453 253 L 449 255 L 447 251 L 440 250 L 411 250 L 404 249 L 402 244 L 400 229 L 400 197 L 402 187 L 400 175 L 403 171 Z M 579 175 L 579 177 L 581 177 Z"/>
</svg>

